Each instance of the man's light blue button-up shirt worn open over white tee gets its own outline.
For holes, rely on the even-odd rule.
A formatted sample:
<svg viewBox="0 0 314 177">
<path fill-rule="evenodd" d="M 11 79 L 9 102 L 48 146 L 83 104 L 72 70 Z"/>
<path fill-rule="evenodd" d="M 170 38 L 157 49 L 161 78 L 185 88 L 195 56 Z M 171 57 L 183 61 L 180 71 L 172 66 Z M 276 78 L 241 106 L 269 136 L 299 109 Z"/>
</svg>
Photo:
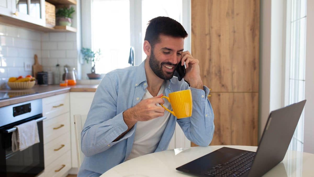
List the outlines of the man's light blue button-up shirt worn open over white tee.
<svg viewBox="0 0 314 177">
<path fill-rule="evenodd" d="M 78 176 L 99 176 L 126 160 L 132 149 L 136 124 L 120 140 L 112 141 L 127 131 L 122 113 L 142 100 L 146 87 L 144 62 L 105 75 L 96 90 L 81 133 L 85 157 Z M 166 96 L 186 89 L 192 92 L 192 116 L 177 119 L 171 114 L 155 152 L 167 150 L 176 122 L 187 139 L 199 146 L 208 146 L 213 138 L 214 113 L 207 99 L 209 89 L 206 86 L 204 90 L 190 88 L 177 77 L 165 84 Z"/>
</svg>

